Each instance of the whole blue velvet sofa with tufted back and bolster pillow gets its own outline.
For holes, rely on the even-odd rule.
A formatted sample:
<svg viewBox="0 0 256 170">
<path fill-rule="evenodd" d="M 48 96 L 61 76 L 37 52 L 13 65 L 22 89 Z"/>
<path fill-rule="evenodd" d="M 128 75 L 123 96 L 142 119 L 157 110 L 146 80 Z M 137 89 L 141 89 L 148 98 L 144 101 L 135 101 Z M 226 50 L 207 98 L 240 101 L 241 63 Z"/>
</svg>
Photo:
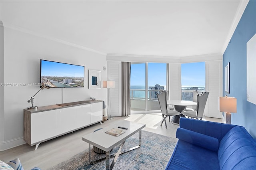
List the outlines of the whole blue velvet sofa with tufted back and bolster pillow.
<svg viewBox="0 0 256 170">
<path fill-rule="evenodd" d="M 256 170 L 256 140 L 244 127 L 180 119 L 166 170 Z"/>
</svg>

